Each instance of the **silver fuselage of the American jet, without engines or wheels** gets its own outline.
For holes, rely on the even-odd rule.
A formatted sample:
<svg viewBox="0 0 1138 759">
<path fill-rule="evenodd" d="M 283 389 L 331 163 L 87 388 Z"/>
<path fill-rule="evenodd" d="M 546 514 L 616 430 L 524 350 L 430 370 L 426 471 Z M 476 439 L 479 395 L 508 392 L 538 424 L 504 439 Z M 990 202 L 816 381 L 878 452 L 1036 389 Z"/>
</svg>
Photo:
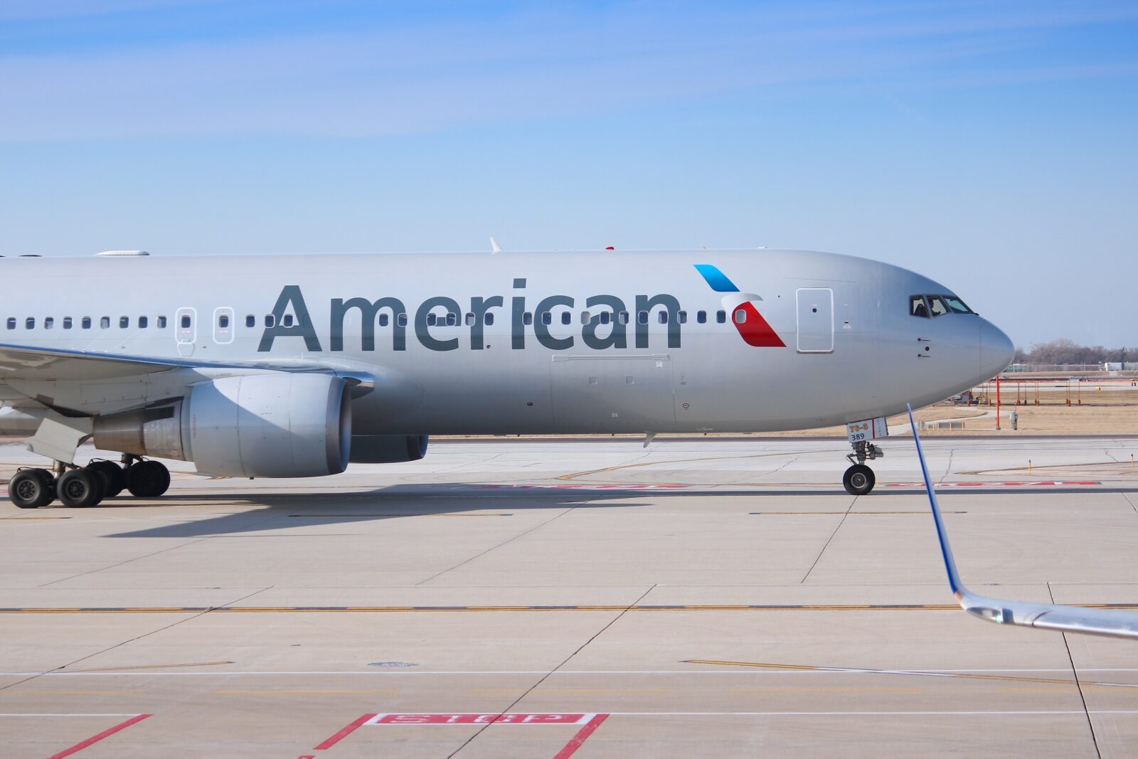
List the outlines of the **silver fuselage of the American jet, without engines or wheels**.
<svg viewBox="0 0 1138 759">
<path fill-rule="evenodd" d="M 5 258 L 0 272 L 5 345 L 368 372 L 356 436 L 823 427 L 959 393 L 1012 348 L 975 314 L 910 314 L 942 284 L 811 251 Z M 775 337 L 754 338 L 756 312 Z M 0 397 L 56 397 L 32 385 Z"/>
</svg>

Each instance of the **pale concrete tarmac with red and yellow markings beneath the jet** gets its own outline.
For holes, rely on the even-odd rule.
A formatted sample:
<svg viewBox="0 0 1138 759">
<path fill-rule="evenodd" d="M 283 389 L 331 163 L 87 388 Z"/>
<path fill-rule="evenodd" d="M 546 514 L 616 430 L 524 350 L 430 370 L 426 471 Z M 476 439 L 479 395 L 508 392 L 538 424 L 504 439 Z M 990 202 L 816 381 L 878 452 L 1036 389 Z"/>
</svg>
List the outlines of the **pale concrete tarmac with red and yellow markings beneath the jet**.
<svg viewBox="0 0 1138 759">
<path fill-rule="evenodd" d="M 2 498 L 0 756 L 1138 756 L 1138 647 L 960 611 L 882 447 L 861 497 L 844 440 L 756 437 Z M 1138 608 L 1138 438 L 926 452 L 973 589 Z"/>
</svg>

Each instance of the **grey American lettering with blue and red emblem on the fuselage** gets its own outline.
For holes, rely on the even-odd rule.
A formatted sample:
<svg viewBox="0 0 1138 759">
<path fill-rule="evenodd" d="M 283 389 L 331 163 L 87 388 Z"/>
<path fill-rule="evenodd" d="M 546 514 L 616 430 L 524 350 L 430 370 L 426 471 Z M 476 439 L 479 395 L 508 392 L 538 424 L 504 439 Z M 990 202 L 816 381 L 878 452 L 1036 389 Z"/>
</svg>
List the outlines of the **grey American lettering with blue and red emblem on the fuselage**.
<svg viewBox="0 0 1138 759">
<path fill-rule="evenodd" d="M 761 300 L 759 296 L 739 292 L 731 280 L 715 266 L 698 264 L 695 269 L 714 290 L 728 291 L 724 288 L 729 288 L 733 296 L 724 297 L 724 308 L 748 344 L 783 347 L 783 341 L 751 303 Z M 345 324 L 353 324 L 356 317 L 360 319 L 360 349 L 364 352 L 376 350 L 377 328 L 389 331 L 393 350 L 407 349 L 407 332 L 428 350 L 456 350 L 463 343 L 471 350 L 483 350 L 490 347 L 486 343 L 486 328 L 493 327 L 495 319 L 504 316 L 510 319 L 510 348 L 513 350 L 525 349 L 529 339 L 551 350 L 568 350 L 577 346 L 578 340 L 593 350 L 625 349 L 629 347 L 629 343 L 632 347 L 648 348 L 649 328 L 653 321 L 665 328 L 658 333 L 658 339 L 666 339 L 669 348 L 678 348 L 682 328 L 687 321 L 687 312 L 681 307 L 679 300 L 667 292 L 637 295 L 630 304 L 616 295 L 589 296 L 584 299 L 579 320 L 576 319 L 578 314 L 571 311 L 578 307 L 577 299 L 568 295 L 547 296 L 530 308 L 525 278 L 513 280 L 509 306 L 506 297 L 501 295 L 475 296 L 470 298 L 469 306 L 464 310 L 457 300 L 446 296 L 427 298 L 413 310 L 409 310 L 403 300 L 395 297 L 377 300 L 362 297 L 332 298 L 329 302 L 328 349 L 345 350 Z M 503 314 L 502 311 L 508 313 Z M 744 312 L 743 315 L 740 314 L 741 311 Z M 699 314 L 702 323 L 707 314 Z M 574 333 L 566 335 L 566 327 L 575 323 Z M 456 327 L 465 327 L 467 335 L 452 337 L 454 330 L 451 328 Z M 288 284 L 281 289 L 257 350 L 272 350 L 275 340 L 281 338 L 302 339 L 305 349 L 311 353 L 324 349 L 299 284 Z"/>
</svg>

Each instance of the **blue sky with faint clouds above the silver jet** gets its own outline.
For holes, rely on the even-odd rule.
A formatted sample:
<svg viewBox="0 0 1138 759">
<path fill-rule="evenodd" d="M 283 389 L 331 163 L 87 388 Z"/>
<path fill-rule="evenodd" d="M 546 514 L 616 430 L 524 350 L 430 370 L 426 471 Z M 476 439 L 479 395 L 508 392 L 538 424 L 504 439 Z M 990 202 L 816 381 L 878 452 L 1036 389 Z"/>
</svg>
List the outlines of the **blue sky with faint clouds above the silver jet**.
<svg viewBox="0 0 1138 759">
<path fill-rule="evenodd" d="M 0 253 L 793 247 L 1138 346 L 1138 3 L 0 5 Z"/>
</svg>

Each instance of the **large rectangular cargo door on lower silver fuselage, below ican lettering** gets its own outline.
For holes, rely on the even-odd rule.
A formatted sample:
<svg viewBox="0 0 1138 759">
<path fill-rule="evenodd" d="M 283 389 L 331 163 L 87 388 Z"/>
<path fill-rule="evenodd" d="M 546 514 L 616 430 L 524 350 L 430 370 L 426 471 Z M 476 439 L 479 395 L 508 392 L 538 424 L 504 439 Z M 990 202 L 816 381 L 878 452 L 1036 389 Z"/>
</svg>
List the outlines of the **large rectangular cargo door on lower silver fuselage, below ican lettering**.
<svg viewBox="0 0 1138 759">
<path fill-rule="evenodd" d="M 575 429 L 654 431 L 676 423 L 673 361 L 648 356 L 553 356 L 553 419 Z"/>
</svg>

